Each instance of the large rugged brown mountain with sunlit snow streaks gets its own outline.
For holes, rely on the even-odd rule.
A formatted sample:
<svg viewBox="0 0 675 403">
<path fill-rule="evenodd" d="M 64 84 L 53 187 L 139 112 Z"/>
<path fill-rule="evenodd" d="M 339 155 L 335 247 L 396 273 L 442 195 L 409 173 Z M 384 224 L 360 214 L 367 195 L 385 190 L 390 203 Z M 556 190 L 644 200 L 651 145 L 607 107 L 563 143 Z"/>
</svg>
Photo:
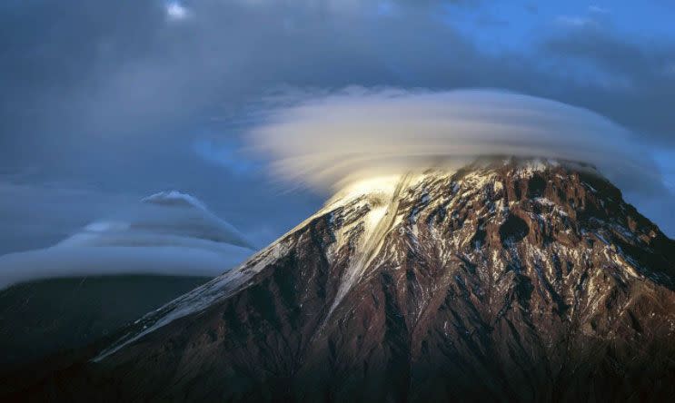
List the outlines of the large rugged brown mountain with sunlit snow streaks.
<svg viewBox="0 0 675 403">
<path fill-rule="evenodd" d="M 373 180 L 15 398 L 666 400 L 674 279 L 591 167 Z"/>
</svg>

